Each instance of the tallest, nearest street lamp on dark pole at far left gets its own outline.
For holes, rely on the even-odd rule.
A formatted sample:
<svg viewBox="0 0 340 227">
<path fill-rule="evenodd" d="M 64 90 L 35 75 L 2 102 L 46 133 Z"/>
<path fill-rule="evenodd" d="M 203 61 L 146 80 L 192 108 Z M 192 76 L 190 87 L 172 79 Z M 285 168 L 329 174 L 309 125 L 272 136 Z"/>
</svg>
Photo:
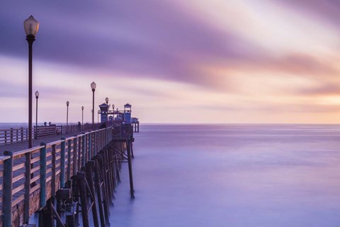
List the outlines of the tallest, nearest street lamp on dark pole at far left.
<svg viewBox="0 0 340 227">
<path fill-rule="evenodd" d="M 32 148 L 32 49 L 39 22 L 31 15 L 23 21 L 23 28 L 28 42 L 28 148 Z"/>
</svg>

